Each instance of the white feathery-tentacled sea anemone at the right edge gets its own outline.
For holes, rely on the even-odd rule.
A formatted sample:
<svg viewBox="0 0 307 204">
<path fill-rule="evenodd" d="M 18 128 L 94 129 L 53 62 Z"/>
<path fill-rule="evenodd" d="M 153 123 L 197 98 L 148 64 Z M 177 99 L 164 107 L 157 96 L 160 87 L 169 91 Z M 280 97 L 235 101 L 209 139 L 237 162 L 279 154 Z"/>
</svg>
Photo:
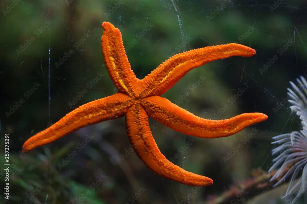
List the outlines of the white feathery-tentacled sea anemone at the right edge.
<svg viewBox="0 0 307 204">
<path fill-rule="evenodd" d="M 286 195 L 283 196 L 291 203 L 297 201 L 307 189 L 307 81 L 303 76 L 296 80 L 298 86 L 290 81 L 293 89 L 288 88 L 290 98 L 288 102 L 292 105 L 290 106 L 292 113 L 300 117 L 303 129 L 273 137 L 276 141 L 272 144 L 279 146 L 272 150 L 272 155 L 279 155 L 272 160 L 274 164 L 269 169 L 271 172 L 281 165 L 270 179 L 270 181 L 279 179 L 273 187 L 283 183 L 292 174 Z M 296 179 L 301 171 L 302 175 Z"/>
</svg>

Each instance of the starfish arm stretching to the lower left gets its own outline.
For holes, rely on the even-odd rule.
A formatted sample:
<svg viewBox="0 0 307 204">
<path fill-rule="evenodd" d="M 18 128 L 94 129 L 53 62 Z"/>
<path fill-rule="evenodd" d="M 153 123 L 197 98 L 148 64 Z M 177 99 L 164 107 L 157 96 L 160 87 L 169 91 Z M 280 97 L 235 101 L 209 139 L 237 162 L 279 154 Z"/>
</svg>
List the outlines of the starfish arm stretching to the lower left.
<svg viewBox="0 0 307 204">
<path fill-rule="evenodd" d="M 22 151 L 29 152 L 84 126 L 122 117 L 131 105 L 131 98 L 121 93 L 86 103 L 66 114 L 49 128 L 30 137 L 23 144 Z"/>
</svg>

